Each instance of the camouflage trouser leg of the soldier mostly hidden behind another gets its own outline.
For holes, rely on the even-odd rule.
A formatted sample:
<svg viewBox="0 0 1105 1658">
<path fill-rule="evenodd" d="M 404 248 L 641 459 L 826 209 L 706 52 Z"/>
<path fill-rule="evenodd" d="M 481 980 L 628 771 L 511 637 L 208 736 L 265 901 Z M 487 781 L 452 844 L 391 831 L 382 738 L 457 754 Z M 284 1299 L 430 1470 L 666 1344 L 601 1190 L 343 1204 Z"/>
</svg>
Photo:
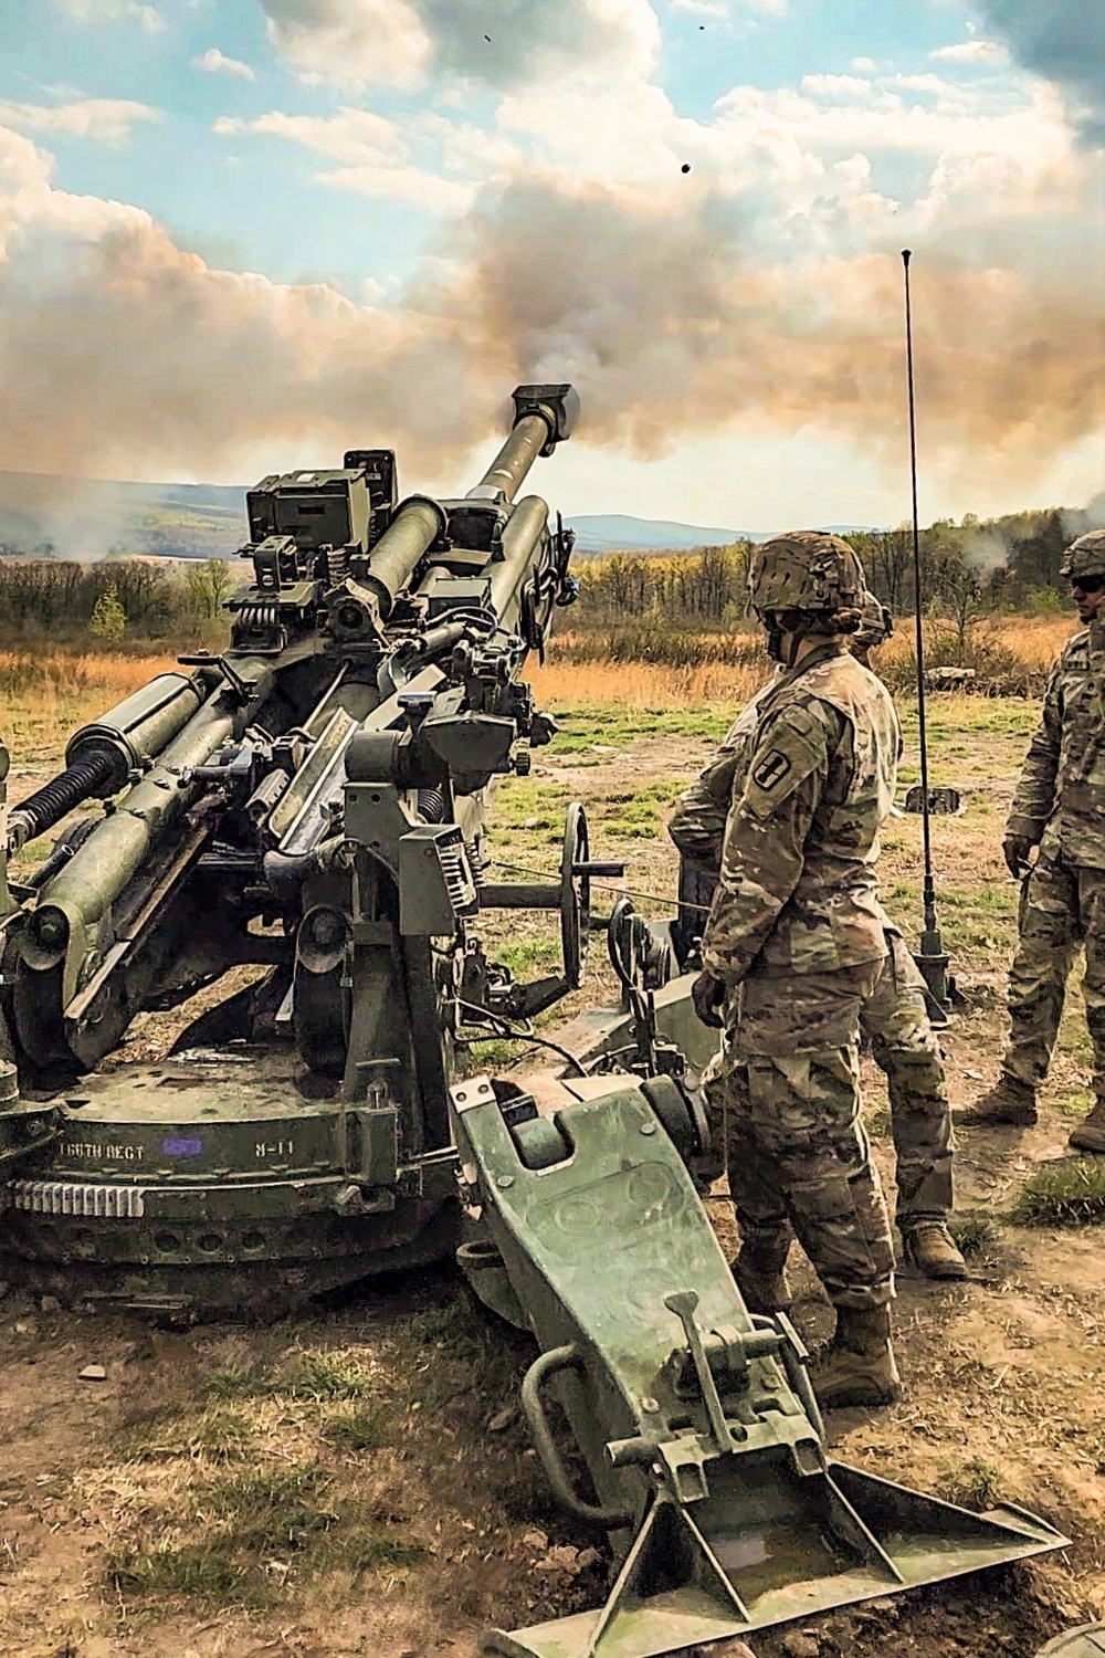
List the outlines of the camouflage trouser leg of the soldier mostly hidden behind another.
<svg viewBox="0 0 1105 1658">
<path fill-rule="evenodd" d="M 898 1225 L 951 1214 L 951 1108 L 939 1041 L 928 1016 L 924 980 L 905 940 L 886 933 L 878 982 L 860 1013 L 860 1031 L 886 1073 L 898 1161 Z"/>
</svg>

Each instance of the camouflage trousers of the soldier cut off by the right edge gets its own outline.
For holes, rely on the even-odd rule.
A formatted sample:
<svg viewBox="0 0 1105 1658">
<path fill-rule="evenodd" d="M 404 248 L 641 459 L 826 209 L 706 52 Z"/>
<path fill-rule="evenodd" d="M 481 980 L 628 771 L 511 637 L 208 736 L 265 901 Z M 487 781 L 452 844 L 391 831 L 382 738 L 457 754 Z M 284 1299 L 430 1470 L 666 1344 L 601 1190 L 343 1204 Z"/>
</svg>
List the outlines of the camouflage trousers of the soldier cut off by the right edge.
<svg viewBox="0 0 1105 1658">
<path fill-rule="evenodd" d="M 1105 1099 L 1105 869 L 1040 861 L 1021 887 L 1017 930 L 1002 1069 L 1032 1088 L 1047 1078 L 1067 980 L 1085 945 L 1082 996 L 1093 1045 L 1093 1093 Z"/>
</svg>

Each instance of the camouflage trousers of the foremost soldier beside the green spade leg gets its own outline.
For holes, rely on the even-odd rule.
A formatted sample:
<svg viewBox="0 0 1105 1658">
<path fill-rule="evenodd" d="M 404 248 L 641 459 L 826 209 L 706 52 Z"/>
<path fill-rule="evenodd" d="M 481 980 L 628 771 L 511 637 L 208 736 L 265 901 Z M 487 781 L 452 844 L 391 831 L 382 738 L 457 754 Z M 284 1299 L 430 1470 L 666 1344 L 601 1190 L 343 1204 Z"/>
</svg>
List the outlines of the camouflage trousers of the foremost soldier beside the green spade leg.
<svg viewBox="0 0 1105 1658">
<path fill-rule="evenodd" d="M 860 1122 L 860 1015 L 881 962 L 779 978 L 749 973 L 712 1066 L 741 1237 L 782 1268 L 792 1230 L 835 1307 L 893 1297 L 895 1252 Z"/>
</svg>

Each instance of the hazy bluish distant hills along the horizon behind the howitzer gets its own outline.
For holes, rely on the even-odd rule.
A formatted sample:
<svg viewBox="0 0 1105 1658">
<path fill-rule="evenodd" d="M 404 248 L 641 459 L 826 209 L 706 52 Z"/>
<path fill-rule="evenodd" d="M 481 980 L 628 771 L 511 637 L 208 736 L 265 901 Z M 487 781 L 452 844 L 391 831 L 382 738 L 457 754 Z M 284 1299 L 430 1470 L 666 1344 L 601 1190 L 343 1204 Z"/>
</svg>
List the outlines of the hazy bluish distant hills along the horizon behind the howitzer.
<svg viewBox="0 0 1105 1658">
<path fill-rule="evenodd" d="M 583 514 L 565 521 L 577 549 L 600 552 L 683 552 L 734 541 L 767 541 L 772 531 L 717 529 L 625 514 Z M 858 526 L 828 526 L 843 531 Z M 113 484 L 45 473 L 0 473 L 0 552 L 104 559 L 232 559 L 247 539 L 245 486 Z"/>
</svg>

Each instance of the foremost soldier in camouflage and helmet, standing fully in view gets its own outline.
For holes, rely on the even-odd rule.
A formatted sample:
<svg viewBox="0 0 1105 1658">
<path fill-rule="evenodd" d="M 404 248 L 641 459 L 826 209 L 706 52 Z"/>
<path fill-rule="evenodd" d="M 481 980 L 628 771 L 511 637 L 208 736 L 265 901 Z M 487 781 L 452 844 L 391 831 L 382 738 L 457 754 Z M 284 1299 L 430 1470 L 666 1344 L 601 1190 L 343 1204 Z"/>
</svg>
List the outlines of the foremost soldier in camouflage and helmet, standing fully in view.
<svg viewBox="0 0 1105 1658">
<path fill-rule="evenodd" d="M 837 1308 L 812 1365 L 825 1406 L 885 1404 L 893 1244 L 860 1126 L 858 1030 L 886 958 L 878 831 L 898 720 L 845 645 L 863 572 L 847 542 L 797 531 L 755 549 L 752 604 L 784 665 L 714 773 L 727 806 L 694 1005 L 724 1038 L 711 1079 L 727 1122 L 737 1280 L 782 1277 L 790 1229 Z"/>
</svg>

